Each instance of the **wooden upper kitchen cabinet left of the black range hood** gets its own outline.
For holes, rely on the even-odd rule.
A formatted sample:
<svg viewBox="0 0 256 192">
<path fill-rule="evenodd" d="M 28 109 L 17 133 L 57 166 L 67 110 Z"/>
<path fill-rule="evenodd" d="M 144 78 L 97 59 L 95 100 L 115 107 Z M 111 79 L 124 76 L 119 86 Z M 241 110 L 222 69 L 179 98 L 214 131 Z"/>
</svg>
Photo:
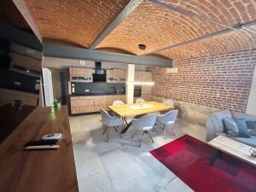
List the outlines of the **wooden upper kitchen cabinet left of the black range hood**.
<svg viewBox="0 0 256 192">
<path fill-rule="evenodd" d="M 92 68 L 69 67 L 70 81 L 92 82 Z"/>
</svg>

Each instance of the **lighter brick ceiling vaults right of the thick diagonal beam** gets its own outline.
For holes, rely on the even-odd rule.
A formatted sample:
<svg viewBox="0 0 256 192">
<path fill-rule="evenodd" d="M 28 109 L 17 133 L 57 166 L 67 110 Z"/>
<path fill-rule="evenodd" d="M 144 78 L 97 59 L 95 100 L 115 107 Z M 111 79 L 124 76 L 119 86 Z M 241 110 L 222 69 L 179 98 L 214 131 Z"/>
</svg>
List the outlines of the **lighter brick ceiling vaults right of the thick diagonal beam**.
<svg viewBox="0 0 256 192">
<path fill-rule="evenodd" d="M 189 10 L 227 26 L 237 26 L 256 20 L 255 0 L 165 0 L 161 2 Z M 226 29 L 224 26 L 182 15 L 158 4 L 144 1 L 97 48 L 115 47 L 142 55 L 224 29 Z M 253 38 L 256 38 L 256 34 L 253 36 L 247 32 L 230 32 L 218 38 L 166 49 L 155 54 L 175 59 L 256 48 Z M 137 44 L 142 43 L 147 45 L 147 49 L 137 48 Z"/>
</svg>

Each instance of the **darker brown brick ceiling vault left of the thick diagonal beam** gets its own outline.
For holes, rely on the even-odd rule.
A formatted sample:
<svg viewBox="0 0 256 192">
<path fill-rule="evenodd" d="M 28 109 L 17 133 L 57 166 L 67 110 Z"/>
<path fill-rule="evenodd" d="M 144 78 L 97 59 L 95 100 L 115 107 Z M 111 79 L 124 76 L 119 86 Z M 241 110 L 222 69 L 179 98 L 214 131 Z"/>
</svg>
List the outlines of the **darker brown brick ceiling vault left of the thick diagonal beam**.
<svg viewBox="0 0 256 192">
<path fill-rule="evenodd" d="M 88 48 L 129 0 L 25 0 L 43 40 Z"/>
</svg>

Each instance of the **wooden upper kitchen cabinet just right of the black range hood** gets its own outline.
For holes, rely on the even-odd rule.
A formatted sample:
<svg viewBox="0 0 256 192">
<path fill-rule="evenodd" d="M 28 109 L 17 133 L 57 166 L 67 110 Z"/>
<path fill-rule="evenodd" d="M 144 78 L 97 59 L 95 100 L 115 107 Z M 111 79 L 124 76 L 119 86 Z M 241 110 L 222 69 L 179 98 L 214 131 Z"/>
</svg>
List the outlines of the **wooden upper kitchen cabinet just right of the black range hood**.
<svg viewBox="0 0 256 192">
<path fill-rule="evenodd" d="M 108 83 L 125 83 L 126 71 L 123 69 L 108 69 L 107 82 Z"/>
</svg>

